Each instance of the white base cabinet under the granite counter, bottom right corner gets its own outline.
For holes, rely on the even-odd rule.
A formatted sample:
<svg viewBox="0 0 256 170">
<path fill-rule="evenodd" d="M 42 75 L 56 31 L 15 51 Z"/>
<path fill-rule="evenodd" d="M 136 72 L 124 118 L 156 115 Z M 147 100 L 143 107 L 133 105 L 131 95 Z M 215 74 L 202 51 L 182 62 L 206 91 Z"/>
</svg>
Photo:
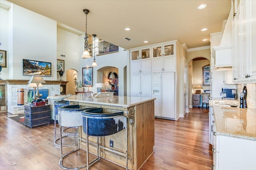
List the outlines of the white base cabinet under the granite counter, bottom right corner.
<svg viewBox="0 0 256 170">
<path fill-rule="evenodd" d="M 213 152 L 215 170 L 255 170 L 256 141 L 216 135 Z"/>
</svg>

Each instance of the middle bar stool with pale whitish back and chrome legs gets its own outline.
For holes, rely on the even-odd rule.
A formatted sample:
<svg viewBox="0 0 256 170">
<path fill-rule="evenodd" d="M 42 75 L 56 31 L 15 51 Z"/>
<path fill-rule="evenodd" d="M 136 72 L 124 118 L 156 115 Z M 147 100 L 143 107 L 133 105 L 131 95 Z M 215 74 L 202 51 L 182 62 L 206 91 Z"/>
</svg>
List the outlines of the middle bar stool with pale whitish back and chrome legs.
<svg viewBox="0 0 256 170">
<path fill-rule="evenodd" d="M 65 170 L 70 170 L 70 169 L 81 169 L 86 167 L 85 165 L 76 167 L 76 168 L 68 168 L 63 166 L 63 160 L 66 156 L 68 156 L 69 154 L 72 154 L 73 152 L 76 152 L 77 150 L 80 149 L 80 145 L 79 145 L 79 137 L 78 137 L 78 148 L 75 150 L 72 150 L 66 154 L 63 154 L 62 152 L 62 127 L 70 127 L 70 128 L 78 128 L 79 126 L 83 125 L 83 117 L 82 117 L 82 110 L 84 110 L 85 108 L 81 109 L 80 105 L 69 105 L 69 106 L 61 106 L 58 107 L 58 123 L 60 125 L 60 154 L 61 154 L 61 158 L 60 158 L 60 167 L 65 169 Z M 79 128 L 78 128 L 78 133 L 79 133 Z"/>
</svg>

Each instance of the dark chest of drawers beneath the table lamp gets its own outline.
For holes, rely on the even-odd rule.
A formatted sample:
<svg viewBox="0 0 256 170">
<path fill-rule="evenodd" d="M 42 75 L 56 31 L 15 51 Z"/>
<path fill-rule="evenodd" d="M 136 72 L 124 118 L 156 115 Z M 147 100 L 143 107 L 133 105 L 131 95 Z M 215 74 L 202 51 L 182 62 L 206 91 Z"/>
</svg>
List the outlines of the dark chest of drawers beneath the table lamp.
<svg viewBox="0 0 256 170">
<path fill-rule="evenodd" d="M 24 106 L 25 125 L 30 127 L 49 124 L 51 122 L 50 105 Z"/>
</svg>

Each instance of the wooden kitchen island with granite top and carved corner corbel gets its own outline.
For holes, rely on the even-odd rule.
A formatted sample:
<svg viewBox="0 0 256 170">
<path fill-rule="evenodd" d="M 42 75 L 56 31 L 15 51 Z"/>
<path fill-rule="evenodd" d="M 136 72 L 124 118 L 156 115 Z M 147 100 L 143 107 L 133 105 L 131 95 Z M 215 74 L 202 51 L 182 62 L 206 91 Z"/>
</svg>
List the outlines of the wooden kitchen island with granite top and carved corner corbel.
<svg viewBox="0 0 256 170">
<path fill-rule="evenodd" d="M 127 117 L 128 130 L 128 168 L 138 170 L 154 153 L 154 100 L 150 97 L 126 97 L 126 96 L 107 96 L 102 98 L 91 98 L 86 94 L 77 94 L 65 98 L 70 103 L 79 104 L 82 107 L 101 107 L 104 109 L 123 111 Z M 121 166 L 126 165 L 125 158 L 120 157 L 111 150 L 125 153 L 125 131 L 120 131 L 114 135 L 100 137 L 103 147 L 100 154 Z M 86 139 L 86 134 L 80 127 L 79 137 Z M 113 147 L 110 147 L 110 140 Z M 96 137 L 89 137 L 89 141 L 96 143 Z M 86 143 L 80 141 L 80 147 L 86 149 Z M 96 147 L 89 146 L 90 152 L 96 153 Z"/>
</svg>

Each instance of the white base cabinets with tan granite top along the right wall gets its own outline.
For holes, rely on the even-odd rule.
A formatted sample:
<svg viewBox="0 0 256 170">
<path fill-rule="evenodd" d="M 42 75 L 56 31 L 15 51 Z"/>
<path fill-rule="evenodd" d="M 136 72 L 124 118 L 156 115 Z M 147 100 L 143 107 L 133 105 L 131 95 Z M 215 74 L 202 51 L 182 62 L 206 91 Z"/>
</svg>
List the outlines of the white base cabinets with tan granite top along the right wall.
<svg viewBox="0 0 256 170">
<path fill-rule="evenodd" d="M 230 102 L 221 100 L 210 102 L 209 129 L 213 134 L 212 168 L 255 170 L 256 109 L 231 107 L 228 104 L 233 106 L 238 102 L 234 100 Z"/>
</svg>

